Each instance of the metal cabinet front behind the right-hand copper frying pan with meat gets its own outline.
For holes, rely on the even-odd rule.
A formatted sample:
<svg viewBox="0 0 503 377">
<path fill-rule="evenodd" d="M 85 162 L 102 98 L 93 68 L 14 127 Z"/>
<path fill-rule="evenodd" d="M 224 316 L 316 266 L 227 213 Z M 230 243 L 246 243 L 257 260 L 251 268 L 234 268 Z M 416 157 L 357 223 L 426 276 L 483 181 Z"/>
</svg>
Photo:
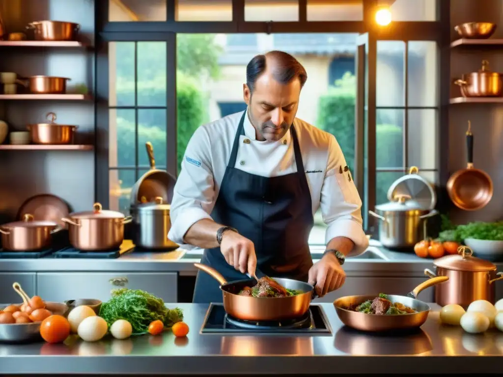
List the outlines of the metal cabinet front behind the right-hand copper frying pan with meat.
<svg viewBox="0 0 503 377">
<path fill-rule="evenodd" d="M 426 277 L 346 277 L 346 282 L 341 289 L 330 292 L 320 299 L 313 300 L 313 302 L 331 303 L 343 296 L 379 293 L 405 296 L 426 279 Z M 434 288 L 424 290 L 417 298 L 427 303 L 433 302 Z"/>
</svg>

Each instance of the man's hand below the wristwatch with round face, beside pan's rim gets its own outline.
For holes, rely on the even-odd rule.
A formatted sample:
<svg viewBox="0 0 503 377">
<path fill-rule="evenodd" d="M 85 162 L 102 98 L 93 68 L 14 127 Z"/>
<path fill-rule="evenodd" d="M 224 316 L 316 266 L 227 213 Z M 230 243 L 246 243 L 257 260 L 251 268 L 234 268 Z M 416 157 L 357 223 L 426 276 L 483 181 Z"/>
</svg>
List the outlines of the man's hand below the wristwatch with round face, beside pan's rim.
<svg viewBox="0 0 503 377">
<path fill-rule="evenodd" d="M 341 288 L 346 281 L 346 272 L 332 253 L 327 253 L 309 269 L 309 284 L 314 286 L 319 297 Z"/>
</svg>

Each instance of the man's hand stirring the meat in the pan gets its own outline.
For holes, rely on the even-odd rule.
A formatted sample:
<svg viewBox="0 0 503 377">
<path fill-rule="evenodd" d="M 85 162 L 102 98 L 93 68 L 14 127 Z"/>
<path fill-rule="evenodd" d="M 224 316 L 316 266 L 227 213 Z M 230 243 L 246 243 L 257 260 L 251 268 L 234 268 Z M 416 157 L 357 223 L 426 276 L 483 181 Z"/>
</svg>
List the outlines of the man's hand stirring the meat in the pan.
<svg viewBox="0 0 503 377">
<path fill-rule="evenodd" d="M 250 276 L 255 275 L 257 268 L 257 255 L 255 246 L 246 237 L 239 233 L 227 231 L 222 236 L 220 251 L 225 261 L 241 273 L 248 272 Z"/>
</svg>

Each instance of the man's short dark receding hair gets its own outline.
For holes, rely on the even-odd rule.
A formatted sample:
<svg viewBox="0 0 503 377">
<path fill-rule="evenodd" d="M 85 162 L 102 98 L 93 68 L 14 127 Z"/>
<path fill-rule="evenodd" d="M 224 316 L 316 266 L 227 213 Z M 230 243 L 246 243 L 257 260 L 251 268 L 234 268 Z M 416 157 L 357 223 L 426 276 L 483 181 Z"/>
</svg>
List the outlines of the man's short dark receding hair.
<svg viewBox="0 0 503 377">
<path fill-rule="evenodd" d="M 273 77 L 281 84 L 288 84 L 293 79 L 300 80 L 300 87 L 303 87 L 307 80 L 307 73 L 302 64 L 292 55 L 283 51 L 269 51 L 266 54 L 256 55 L 246 65 L 246 85 L 253 92 L 255 82 L 266 70 L 267 56 L 274 59 L 275 67 L 272 70 Z"/>
</svg>

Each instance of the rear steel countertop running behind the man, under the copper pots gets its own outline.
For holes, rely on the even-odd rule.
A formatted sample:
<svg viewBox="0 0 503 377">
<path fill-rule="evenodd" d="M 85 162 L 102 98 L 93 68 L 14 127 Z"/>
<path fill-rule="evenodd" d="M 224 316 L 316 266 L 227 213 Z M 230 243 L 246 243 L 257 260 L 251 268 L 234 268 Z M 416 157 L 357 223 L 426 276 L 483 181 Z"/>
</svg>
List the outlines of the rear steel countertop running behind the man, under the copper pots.
<svg viewBox="0 0 503 377">
<path fill-rule="evenodd" d="M 323 252 L 323 246 L 312 246 L 313 259 Z M 348 258 L 344 269 L 348 276 L 424 276 L 425 268 L 433 267 L 433 259 L 423 259 L 414 253 L 396 252 L 380 247 L 375 240 L 370 241 L 370 253 L 383 255 L 385 259 Z M 185 255 L 187 253 L 187 255 Z M 188 255 L 193 258 L 187 258 Z M 125 272 L 180 272 L 195 274 L 195 262 L 200 261 L 202 250 L 171 252 L 131 251 L 117 259 L 52 258 L 0 259 L 0 272 L 49 272 L 49 271 L 125 271 Z M 99 261 L 99 263 L 98 263 Z M 495 263 L 503 267 L 503 263 Z"/>
</svg>

